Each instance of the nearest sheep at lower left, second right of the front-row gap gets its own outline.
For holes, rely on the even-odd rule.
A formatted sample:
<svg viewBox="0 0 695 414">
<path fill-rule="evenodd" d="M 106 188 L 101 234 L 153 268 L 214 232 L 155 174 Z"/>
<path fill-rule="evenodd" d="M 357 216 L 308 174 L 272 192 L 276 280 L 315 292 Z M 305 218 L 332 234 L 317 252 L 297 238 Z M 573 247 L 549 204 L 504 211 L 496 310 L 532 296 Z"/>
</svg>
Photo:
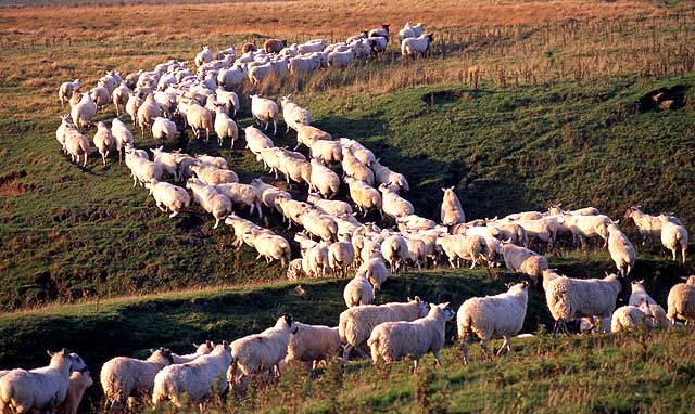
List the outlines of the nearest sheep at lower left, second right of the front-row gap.
<svg viewBox="0 0 695 414">
<path fill-rule="evenodd" d="M 152 402 L 159 405 L 170 400 L 180 407 L 185 394 L 198 403 L 214 392 L 223 396 L 227 391 L 226 374 L 232 361 L 230 346 L 225 340 L 206 355 L 186 364 L 166 366 L 154 377 Z"/>
</svg>

